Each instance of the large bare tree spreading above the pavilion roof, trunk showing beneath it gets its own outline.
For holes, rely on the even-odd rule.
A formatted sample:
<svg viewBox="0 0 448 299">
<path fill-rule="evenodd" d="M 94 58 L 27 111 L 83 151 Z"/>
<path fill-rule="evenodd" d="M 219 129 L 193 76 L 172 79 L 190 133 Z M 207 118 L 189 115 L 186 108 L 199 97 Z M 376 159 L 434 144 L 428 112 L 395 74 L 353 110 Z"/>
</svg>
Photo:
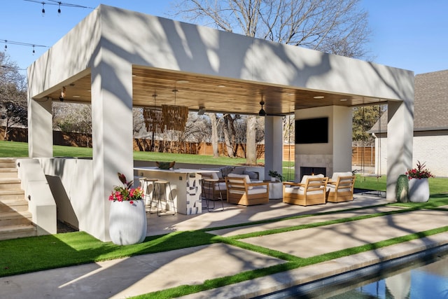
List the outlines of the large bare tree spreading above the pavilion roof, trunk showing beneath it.
<svg viewBox="0 0 448 299">
<path fill-rule="evenodd" d="M 178 0 L 175 10 L 176 15 L 226 32 L 370 60 L 365 50 L 370 29 L 359 1 Z M 246 151 L 254 151 L 253 137 L 246 142 Z M 253 155 L 246 155 L 253 162 Z"/>
</svg>

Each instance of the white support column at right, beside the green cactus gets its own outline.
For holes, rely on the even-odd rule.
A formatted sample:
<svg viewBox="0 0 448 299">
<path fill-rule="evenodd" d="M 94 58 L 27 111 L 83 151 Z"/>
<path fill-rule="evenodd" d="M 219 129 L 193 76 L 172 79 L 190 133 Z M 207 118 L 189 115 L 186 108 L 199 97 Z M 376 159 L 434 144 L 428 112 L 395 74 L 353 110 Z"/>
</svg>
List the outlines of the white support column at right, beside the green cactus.
<svg viewBox="0 0 448 299">
<path fill-rule="evenodd" d="M 398 176 L 412 167 L 414 99 L 388 102 L 386 200 L 395 202 Z"/>
</svg>

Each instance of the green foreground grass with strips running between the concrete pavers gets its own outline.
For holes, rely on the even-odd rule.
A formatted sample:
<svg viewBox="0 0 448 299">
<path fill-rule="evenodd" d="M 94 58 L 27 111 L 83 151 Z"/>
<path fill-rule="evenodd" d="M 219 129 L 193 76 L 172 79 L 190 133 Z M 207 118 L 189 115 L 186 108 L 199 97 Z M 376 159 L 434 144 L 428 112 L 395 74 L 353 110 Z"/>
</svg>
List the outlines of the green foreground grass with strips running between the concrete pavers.
<svg viewBox="0 0 448 299">
<path fill-rule="evenodd" d="M 402 237 L 396 237 L 393 239 L 386 239 L 381 242 L 373 244 L 365 244 L 363 246 L 357 246 L 349 249 L 343 249 L 331 253 L 325 253 L 320 256 L 313 256 L 311 258 L 298 258 L 297 256 L 291 256 L 288 253 L 279 251 L 273 251 L 264 247 L 248 244 L 244 242 L 244 239 L 248 237 L 255 237 L 260 235 L 272 235 L 281 232 L 291 230 L 303 230 L 313 227 L 321 227 L 325 225 L 333 225 L 335 223 L 344 223 L 351 221 L 358 221 L 365 218 L 372 218 L 378 216 L 385 216 L 398 213 L 406 213 L 414 209 L 440 209 L 441 206 L 448 204 L 448 196 L 439 197 L 431 200 L 427 203 L 413 204 L 409 203 L 408 209 L 399 209 L 395 211 L 387 211 L 382 213 L 364 214 L 351 217 L 340 217 L 328 221 L 309 221 L 309 224 L 295 225 L 288 228 L 277 228 L 272 230 L 265 230 L 262 232 L 253 232 L 245 235 L 235 235 L 232 237 L 222 237 L 218 235 L 212 235 L 207 233 L 209 230 L 217 230 L 221 228 L 208 228 L 204 230 L 195 231 L 179 231 L 172 232 L 167 235 L 158 235 L 152 237 L 146 237 L 143 243 L 118 246 L 111 242 L 101 242 L 94 237 L 88 235 L 85 232 L 69 232 L 58 235 L 45 235 L 39 237 L 28 237 L 21 239 L 10 239 L 0 241 L 0 256 L 7 256 L 8 258 L 0 259 L 0 277 L 10 276 L 13 274 L 36 272 L 39 270 L 52 269 L 56 267 L 64 267 L 69 265 L 80 265 L 83 263 L 92 263 L 99 260 L 111 260 L 115 258 L 123 258 L 125 256 L 137 256 L 147 253 L 156 253 L 162 251 L 171 251 L 174 249 L 188 248 L 192 246 L 200 246 L 205 244 L 225 243 L 232 246 L 239 246 L 246 250 L 262 253 L 274 258 L 280 258 L 285 260 L 286 263 L 281 265 L 275 265 L 272 267 L 266 267 L 258 270 L 250 270 L 241 272 L 230 277 L 221 277 L 217 279 L 209 279 L 204 284 L 192 285 L 192 286 L 177 286 L 175 288 L 168 288 L 164 291 L 158 291 L 155 293 L 149 293 L 146 295 L 138 296 L 138 298 L 174 298 L 180 295 L 188 295 L 190 293 L 196 293 L 197 291 L 203 291 L 210 288 L 217 288 L 219 286 L 225 286 L 233 284 L 239 281 L 246 281 L 248 279 L 255 279 L 256 277 L 263 277 L 286 270 L 296 269 L 298 267 L 304 267 L 315 263 L 322 263 L 326 260 L 332 260 L 342 256 L 349 256 L 352 254 L 377 250 L 384 246 L 390 246 L 392 244 L 398 244 L 401 242 L 407 242 L 412 239 L 418 239 L 421 237 L 428 237 L 440 232 L 446 232 L 448 226 L 443 226 L 441 223 L 440 228 L 433 230 L 427 230 L 418 233 L 411 233 Z M 358 208 L 357 210 L 366 209 L 368 207 Z M 287 218 L 277 218 L 269 221 L 257 221 L 250 223 L 241 223 L 238 226 L 254 225 L 258 223 L 272 223 L 276 221 L 284 221 L 291 218 L 309 217 L 323 214 L 338 214 L 342 211 L 330 211 L 325 213 L 308 214 L 300 216 L 292 216 Z M 236 225 L 233 225 L 236 226 Z"/>
</svg>

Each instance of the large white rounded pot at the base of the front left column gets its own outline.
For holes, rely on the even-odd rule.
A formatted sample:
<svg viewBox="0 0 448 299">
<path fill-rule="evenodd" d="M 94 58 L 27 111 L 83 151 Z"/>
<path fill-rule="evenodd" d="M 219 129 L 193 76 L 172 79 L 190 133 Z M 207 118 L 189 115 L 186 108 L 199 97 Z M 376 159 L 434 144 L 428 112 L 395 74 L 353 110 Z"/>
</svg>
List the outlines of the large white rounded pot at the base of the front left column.
<svg viewBox="0 0 448 299">
<path fill-rule="evenodd" d="M 130 245 L 144 241 L 146 237 L 146 211 L 144 200 L 111 202 L 109 235 L 114 244 Z"/>
</svg>

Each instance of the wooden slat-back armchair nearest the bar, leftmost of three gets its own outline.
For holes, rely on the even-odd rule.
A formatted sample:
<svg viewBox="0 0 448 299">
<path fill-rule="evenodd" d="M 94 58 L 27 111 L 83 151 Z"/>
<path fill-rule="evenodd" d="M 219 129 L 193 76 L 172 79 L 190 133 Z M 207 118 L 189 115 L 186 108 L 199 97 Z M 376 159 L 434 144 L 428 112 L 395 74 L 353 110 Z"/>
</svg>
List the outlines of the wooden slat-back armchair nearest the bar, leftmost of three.
<svg viewBox="0 0 448 299">
<path fill-rule="evenodd" d="M 269 182 L 252 183 L 248 174 L 228 174 L 225 183 L 230 204 L 250 206 L 269 202 Z"/>
</svg>

